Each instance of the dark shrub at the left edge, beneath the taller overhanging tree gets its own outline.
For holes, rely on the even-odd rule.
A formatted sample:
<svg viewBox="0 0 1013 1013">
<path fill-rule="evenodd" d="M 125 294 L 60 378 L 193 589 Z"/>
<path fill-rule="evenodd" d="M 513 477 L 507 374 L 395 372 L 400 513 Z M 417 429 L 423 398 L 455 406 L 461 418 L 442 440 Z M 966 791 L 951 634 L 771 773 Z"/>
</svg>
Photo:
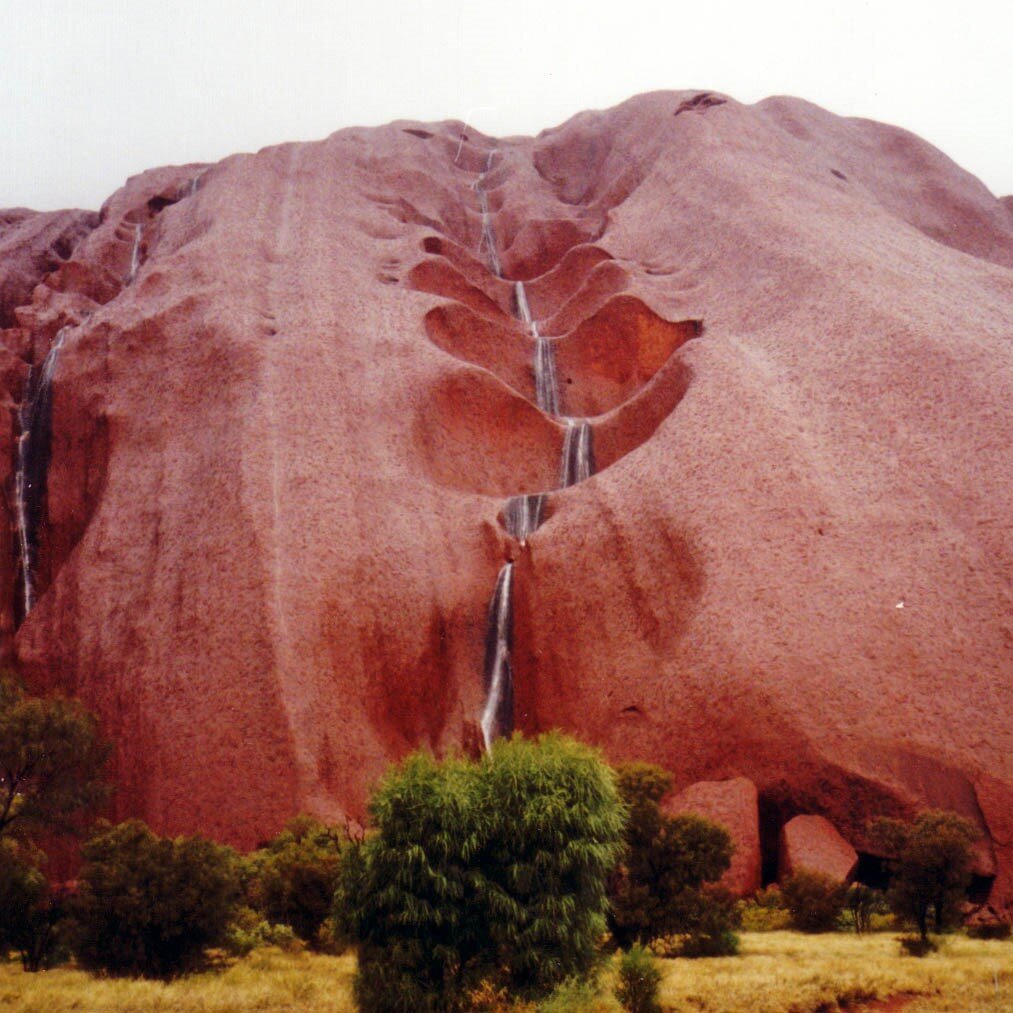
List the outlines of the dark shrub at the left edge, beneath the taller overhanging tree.
<svg viewBox="0 0 1013 1013">
<path fill-rule="evenodd" d="M 51 965 L 63 919 L 63 895 L 51 889 L 30 847 L 0 840 L 0 955 L 15 950 L 25 970 Z"/>
</svg>

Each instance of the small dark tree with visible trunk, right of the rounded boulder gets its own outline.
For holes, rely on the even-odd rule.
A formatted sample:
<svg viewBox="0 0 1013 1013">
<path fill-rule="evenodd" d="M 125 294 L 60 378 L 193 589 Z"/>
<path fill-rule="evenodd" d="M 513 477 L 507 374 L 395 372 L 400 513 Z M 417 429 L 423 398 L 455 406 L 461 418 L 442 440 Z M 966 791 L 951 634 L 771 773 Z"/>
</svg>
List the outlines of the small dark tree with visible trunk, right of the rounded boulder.
<svg viewBox="0 0 1013 1013">
<path fill-rule="evenodd" d="M 877 820 L 872 834 L 887 855 L 893 914 L 914 922 L 923 944 L 930 925 L 936 932 L 955 925 L 970 882 L 970 845 L 979 837 L 973 824 L 931 809 L 914 823 Z"/>
</svg>

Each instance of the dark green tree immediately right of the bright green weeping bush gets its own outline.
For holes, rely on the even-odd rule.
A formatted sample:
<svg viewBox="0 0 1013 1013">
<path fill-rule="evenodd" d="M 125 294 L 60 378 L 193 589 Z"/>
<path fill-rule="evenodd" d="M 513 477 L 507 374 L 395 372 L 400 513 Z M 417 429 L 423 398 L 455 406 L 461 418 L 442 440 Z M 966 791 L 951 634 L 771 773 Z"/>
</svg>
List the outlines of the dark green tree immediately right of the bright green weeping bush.
<svg viewBox="0 0 1013 1013">
<path fill-rule="evenodd" d="M 670 775 L 649 764 L 617 770 L 629 809 L 622 862 L 612 877 L 610 929 L 616 942 L 682 936 L 686 955 L 734 952 L 735 907 L 715 883 L 731 863 L 728 832 L 696 815 L 667 816 L 659 801 Z"/>
</svg>

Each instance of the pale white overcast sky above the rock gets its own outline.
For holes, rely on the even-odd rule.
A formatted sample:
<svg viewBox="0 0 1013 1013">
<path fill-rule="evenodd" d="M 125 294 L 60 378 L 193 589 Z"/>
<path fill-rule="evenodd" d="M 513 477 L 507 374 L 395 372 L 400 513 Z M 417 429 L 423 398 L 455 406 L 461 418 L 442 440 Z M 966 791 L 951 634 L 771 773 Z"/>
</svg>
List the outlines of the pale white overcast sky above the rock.
<svg viewBox="0 0 1013 1013">
<path fill-rule="evenodd" d="M 402 118 L 532 134 L 655 88 L 894 123 L 1013 192 L 1010 0 L 0 0 L 0 207 Z"/>
</svg>

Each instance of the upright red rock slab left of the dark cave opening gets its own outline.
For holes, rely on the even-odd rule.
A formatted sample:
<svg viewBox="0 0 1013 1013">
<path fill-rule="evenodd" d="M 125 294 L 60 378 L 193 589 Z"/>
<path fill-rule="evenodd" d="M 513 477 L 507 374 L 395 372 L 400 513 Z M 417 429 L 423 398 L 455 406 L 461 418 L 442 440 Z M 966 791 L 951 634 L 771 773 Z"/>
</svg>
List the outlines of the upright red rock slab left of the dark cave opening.
<svg viewBox="0 0 1013 1013">
<path fill-rule="evenodd" d="M 760 811 L 757 786 L 749 778 L 698 781 L 678 795 L 663 799 L 661 809 L 669 815 L 692 812 L 721 824 L 735 845 L 722 884 L 736 897 L 747 897 L 760 888 Z"/>
</svg>

